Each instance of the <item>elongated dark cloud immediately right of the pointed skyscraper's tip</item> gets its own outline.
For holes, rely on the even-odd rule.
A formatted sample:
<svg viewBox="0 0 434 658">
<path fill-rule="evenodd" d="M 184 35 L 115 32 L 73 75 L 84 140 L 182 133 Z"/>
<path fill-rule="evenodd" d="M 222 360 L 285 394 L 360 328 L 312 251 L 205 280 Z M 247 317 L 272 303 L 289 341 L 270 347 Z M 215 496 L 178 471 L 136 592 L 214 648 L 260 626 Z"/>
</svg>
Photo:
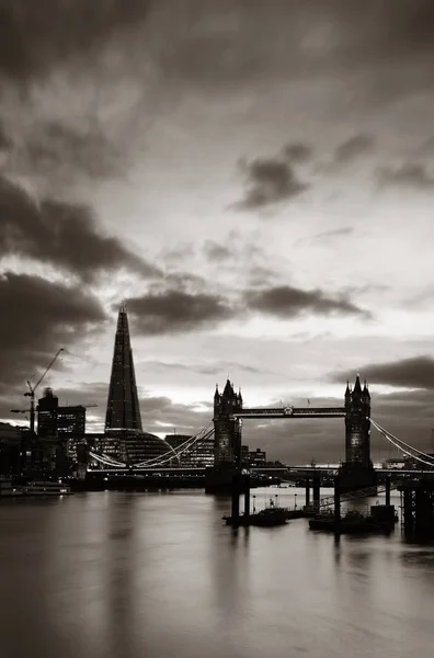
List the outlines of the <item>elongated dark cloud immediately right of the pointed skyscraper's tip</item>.
<svg viewBox="0 0 434 658">
<path fill-rule="evenodd" d="M 145 334 L 181 333 L 218 325 L 233 315 L 218 295 L 168 290 L 127 299 L 129 315 Z"/>
</svg>

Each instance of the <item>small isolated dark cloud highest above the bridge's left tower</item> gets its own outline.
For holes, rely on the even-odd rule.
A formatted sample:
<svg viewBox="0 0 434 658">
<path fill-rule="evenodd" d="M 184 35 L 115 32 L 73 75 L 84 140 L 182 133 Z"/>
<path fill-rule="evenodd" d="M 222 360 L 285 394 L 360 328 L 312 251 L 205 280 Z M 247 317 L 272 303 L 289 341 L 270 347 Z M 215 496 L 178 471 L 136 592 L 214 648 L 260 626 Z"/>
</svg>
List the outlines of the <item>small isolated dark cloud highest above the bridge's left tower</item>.
<svg viewBox="0 0 434 658">
<path fill-rule="evenodd" d="M 293 166 L 277 158 L 243 163 L 247 181 L 244 197 L 236 204 L 240 209 L 260 209 L 305 192 L 309 185 L 298 179 Z"/>
</svg>

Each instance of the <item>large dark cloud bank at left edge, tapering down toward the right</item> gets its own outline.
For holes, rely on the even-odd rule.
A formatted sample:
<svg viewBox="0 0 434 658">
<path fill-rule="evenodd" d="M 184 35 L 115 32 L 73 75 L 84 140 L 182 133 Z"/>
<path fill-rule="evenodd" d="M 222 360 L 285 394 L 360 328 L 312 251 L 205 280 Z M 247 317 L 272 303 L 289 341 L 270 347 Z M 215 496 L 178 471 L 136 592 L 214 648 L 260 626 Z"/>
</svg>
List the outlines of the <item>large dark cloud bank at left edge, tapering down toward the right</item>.
<svg viewBox="0 0 434 658">
<path fill-rule="evenodd" d="M 68 270 L 84 280 L 98 272 L 127 268 L 144 276 L 159 271 L 117 238 L 96 228 L 89 206 L 32 200 L 0 179 L 0 253 L 24 256 Z"/>
</svg>

